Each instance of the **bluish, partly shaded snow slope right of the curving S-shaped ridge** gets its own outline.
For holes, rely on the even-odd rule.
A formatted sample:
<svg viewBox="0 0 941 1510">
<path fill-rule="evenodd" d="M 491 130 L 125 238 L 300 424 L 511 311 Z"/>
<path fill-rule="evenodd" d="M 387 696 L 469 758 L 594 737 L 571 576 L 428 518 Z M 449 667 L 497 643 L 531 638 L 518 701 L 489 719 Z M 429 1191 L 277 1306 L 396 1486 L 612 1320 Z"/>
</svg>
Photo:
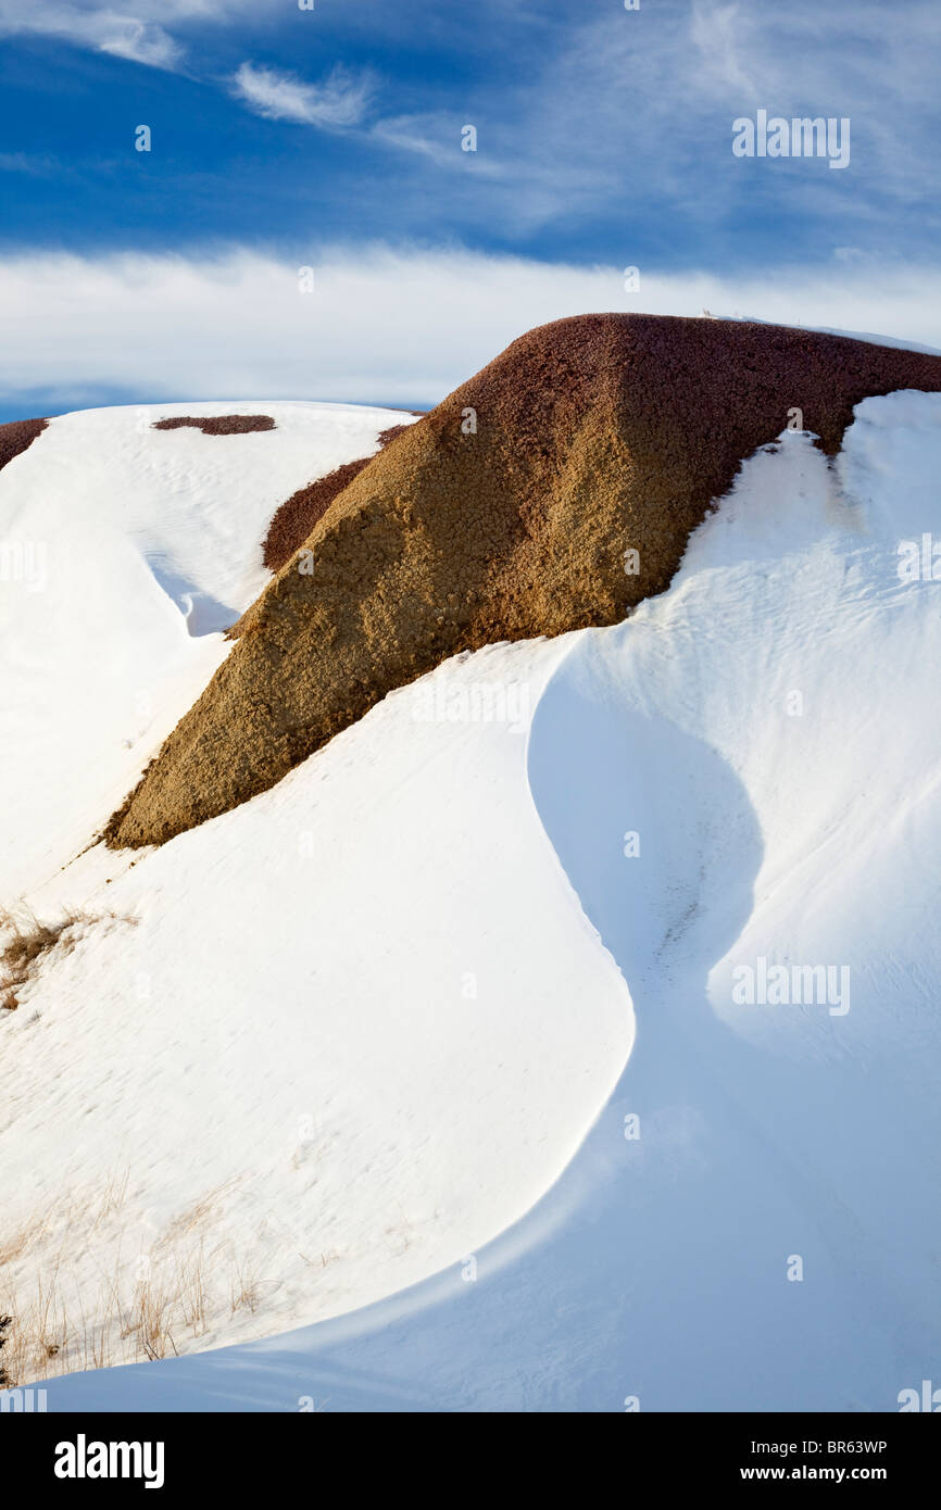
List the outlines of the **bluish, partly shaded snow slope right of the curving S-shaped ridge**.
<svg viewBox="0 0 941 1510">
<path fill-rule="evenodd" d="M 668 593 L 569 639 L 530 784 L 637 1036 L 476 1282 L 51 1409 L 896 1410 L 936 1379 L 941 581 L 897 547 L 941 539 L 939 474 L 936 396 L 865 400 L 832 467 L 787 435 Z M 736 1003 L 761 957 L 849 997 Z"/>
</svg>

